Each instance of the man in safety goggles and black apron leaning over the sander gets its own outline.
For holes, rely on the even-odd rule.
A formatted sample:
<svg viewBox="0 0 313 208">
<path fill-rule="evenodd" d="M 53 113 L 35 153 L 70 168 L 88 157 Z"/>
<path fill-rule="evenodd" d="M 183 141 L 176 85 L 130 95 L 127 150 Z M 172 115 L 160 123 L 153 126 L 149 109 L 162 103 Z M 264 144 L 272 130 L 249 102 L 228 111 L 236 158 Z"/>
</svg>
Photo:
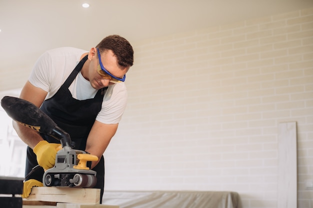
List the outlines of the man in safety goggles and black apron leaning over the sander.
<svg viewBox="0 0 313 208">
<path fill-rule="evenodd" d="M 74 149 L 95 155 L 91 169 L 97 184 L 104 187 L 103 153 L 114 136 L 126 106 L 125 74 L 133 64 L 133 49 L 121 36 L 110 35 L 89 52 L 77 48 L 56 48 L 43 53 L 21 90 L 20 98 L 46 113 L 75 142 Z M 38 164 L 42 167 L 25 178 L 22 197 L 33 186 L 42 186 L 44 169 L 54 166 L 59 141 L 40 135 L 13 122 L 27 147 L 25 176 Z"/>
</svg>

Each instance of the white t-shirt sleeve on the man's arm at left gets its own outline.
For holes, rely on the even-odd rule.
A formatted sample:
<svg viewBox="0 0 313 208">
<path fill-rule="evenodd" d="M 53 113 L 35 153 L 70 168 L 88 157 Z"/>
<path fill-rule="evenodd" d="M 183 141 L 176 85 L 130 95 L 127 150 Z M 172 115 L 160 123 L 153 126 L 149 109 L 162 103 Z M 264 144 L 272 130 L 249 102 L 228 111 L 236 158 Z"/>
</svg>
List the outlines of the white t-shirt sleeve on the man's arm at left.
<svg viewBox="0 0 313 208">
<path fill-rule="evenodd" d="M 39 87 L 48 92 L 51 83 L 51 58 L 47 52 L 43 53 L 37 59 L 28 81 L 35 87 Z"/>
</svg>

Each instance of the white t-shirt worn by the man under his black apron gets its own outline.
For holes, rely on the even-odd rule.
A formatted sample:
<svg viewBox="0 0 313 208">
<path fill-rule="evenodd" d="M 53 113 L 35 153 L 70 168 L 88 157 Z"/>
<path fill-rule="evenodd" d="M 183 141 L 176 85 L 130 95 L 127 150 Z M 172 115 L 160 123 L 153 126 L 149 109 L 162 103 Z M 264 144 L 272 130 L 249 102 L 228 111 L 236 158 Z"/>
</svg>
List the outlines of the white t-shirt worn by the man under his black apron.
<svg viewBox="0 0 313 208">
<path fill-rule="evenodd" d="M 81 55 L 87 52 L 72 47 L 48 50 L 36 61 L 28 81 L 35 87 L 48 92 L 45 99 L 49 99 L 73 71 Z M 77 100 L 93 98 L 97 92 L 80 72 L 68 89 L 72 97 Z M 101 110 L 95 120 L 104 124 L 118 123 L 125 110 L 126 101 L 127 89 L 123 82 L 109 85 L 103 97 Z"/>
</svg>

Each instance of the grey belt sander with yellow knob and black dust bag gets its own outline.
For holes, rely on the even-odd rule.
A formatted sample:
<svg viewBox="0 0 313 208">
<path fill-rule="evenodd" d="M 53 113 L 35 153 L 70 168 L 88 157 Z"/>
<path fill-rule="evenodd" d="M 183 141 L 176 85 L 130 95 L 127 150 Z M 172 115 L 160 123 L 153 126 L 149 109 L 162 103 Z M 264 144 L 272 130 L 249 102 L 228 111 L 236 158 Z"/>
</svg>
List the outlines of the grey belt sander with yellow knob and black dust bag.
<svg viewBox="0 0 313 208">
<path fill-rule="evenodd" d="M 97 161 L 96 156 L 82 150 L 74 150 L 69 134 L 32 103 L 5 96 L 1 100 L 1 106 L 16 122 L 60 141 L 62 148 L 57 151 L 54 167 L 44 172 L 43 186 L 81 188 L 95 186 L 96 172 L 90 170 L 86 163 Z"/>
</svg>

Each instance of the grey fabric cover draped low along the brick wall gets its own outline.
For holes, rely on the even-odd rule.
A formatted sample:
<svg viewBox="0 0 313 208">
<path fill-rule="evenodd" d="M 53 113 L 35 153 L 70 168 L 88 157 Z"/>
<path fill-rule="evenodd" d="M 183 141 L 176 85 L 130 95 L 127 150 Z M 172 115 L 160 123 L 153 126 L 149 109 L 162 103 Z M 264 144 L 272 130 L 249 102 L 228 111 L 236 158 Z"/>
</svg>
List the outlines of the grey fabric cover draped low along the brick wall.
<svg viewBox="0 0 313 208">
<path fill-rule="evenodd" d="M 242 208 L 236 192 L 104 191 L 104 205 L 120 208 Z"/>
</svg>

